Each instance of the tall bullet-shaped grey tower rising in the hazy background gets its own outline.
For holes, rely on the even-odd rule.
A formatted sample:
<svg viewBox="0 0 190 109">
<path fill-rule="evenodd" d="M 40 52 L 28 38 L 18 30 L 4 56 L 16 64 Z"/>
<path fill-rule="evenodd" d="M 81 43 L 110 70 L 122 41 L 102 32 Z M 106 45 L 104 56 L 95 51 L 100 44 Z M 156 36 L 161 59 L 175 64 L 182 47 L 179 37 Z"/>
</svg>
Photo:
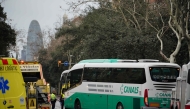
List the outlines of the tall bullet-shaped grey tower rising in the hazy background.
<svg viewBox="0 0 190 109">
<path fill-rule="evenodd" d="M 38 61 L 39 50 L 43 48 L 43 39 L 40 25 L 32 20 L 28 29 L 26 61 Z"/>
</svg>

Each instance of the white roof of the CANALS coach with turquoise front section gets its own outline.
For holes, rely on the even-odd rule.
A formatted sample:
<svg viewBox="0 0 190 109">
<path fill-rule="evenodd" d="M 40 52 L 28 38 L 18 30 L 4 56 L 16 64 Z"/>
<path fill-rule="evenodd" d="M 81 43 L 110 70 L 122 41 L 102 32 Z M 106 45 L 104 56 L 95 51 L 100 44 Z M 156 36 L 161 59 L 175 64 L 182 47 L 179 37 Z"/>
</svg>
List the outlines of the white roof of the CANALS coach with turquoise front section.
<svg viewBox="0 0 190 109">
<path fill-rule="evenodd" d="M 130 60 L 131 61 L 131 60 Z M 116 67 L 116 68 L 145 68 L 146 66 L 175 66 L 180 67 L 178 64 L 175 63 L 165 63 L 165 62 L 158 62 L 158 60 L 146 60 L 146 61 L 139 61 L 139 62 L 121 62 L 121 59 L 92 59 L 92 60 L 83 60 L 79 63 L 75 64 L 70 70 L 72 69 L 79 69 L 83 67 Z"/>
</svg>

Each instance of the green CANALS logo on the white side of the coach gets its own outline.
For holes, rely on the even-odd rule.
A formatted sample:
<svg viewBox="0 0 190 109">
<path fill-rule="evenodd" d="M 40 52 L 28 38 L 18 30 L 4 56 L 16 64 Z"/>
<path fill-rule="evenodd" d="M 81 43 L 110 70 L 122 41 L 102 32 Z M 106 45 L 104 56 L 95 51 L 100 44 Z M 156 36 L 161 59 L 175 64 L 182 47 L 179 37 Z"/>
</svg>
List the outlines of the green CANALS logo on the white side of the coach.
<svg viewBox="0 0 190 109">
<path fill-rule="evenodd" d="M 132 87 L 132 86 L 122 86 L 120 87 L 121 94 L 123 93 L 134 93 L 137 94 L 139 92 L 139 87 Z"/>
</svg>

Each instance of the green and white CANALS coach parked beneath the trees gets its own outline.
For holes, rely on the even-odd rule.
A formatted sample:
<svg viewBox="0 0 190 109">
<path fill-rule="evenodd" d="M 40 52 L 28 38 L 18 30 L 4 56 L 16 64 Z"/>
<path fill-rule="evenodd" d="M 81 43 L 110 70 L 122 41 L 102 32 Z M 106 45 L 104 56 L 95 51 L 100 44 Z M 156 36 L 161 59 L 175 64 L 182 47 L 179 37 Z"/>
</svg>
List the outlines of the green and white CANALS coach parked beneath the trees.
<svg viewBox="0 0 190 109">
<path fill-rule="evenodd" d="M 151 59 L 80 61 L 66 73 L 65 109 L 169 109 L 180 70 Z"/>
</svg>

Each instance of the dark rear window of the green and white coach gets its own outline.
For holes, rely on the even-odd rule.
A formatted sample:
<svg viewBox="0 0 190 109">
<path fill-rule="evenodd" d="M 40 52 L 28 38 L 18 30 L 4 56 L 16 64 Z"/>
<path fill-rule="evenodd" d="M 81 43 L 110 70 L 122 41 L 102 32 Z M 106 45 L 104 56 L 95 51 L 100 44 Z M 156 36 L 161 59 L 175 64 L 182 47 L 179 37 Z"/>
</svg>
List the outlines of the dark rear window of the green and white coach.
<svg viewBox="0 0 190 109">
<path fill-rule="evenodd" d="M 176 82 L 179 76 L 179 68 L 150 67 L 151 79 L 156 82 Z"/>
</svg>

